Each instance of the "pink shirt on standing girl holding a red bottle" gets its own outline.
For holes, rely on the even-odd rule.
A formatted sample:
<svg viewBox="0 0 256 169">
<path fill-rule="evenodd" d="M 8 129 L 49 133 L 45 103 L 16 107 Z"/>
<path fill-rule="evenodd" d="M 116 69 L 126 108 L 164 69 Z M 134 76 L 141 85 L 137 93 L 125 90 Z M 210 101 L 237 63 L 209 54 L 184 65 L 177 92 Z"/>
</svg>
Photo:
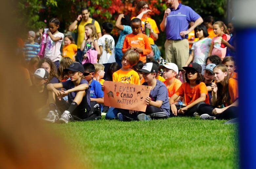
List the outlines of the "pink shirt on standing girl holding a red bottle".
<svg viewBox="0 0 256 169">
<path fill-rule="evenodd" d="M 227 34 L 226 36 L 227 36 L 226 41 L 229 41 L 230 36 Z M 211 42 L 211 44 L 213 44 L 212 55 L 217 55 L 223 60 L 226 56 L 227 47 L 225 48 L 221 47 L 221 40 L 222 40 L 221 36 L 215 36 L 214 38 L 212 38 L 212 42 Z"/>
</svg>

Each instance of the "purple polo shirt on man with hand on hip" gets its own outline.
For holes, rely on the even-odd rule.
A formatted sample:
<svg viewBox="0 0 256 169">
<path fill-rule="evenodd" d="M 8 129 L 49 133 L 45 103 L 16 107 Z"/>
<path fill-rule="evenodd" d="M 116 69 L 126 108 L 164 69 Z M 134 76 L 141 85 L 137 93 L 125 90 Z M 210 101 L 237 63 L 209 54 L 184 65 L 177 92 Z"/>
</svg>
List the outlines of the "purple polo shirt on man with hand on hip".
<svg viewBox="0 0 256 169">
<path fill-rule="evenodd" d="M 195 22 L 198 18 L 200 18 L 200 15 L 192 8 L 180 3 L 178 8 L 176 10 L 171 9 L 171 12 L 167 16 L 165 27 L 166 39 L 187 39 L 188 35 L 186 35 L 185 38 L 182 38 L 180 32 L 188 30 L 189 22 Z"/>
</svg>

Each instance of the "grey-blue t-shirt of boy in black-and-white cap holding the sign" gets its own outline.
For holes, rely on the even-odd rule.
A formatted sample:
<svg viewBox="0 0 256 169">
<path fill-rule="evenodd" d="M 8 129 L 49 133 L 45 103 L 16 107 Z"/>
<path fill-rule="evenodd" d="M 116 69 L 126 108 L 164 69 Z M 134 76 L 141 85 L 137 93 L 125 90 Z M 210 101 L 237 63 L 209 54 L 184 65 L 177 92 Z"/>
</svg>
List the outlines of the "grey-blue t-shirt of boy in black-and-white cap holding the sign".
<svg viewBox="0 0 256 169">
<path fill-rule="evenodd" d="M 142 85 L 148 86 L 147 82 L 142 83 Z M 166 115 L 169 117 L 170 115 L 170 104 L 168 98 L 168 91 L 163 82 L 157 79 L 157 84 L 154 89 L 151 89 L 149 97 L 151 97 L 152 101 L 161 100 L 163 101 L 161 105 L 161 109 L 165 110 Z"/>
</svg>

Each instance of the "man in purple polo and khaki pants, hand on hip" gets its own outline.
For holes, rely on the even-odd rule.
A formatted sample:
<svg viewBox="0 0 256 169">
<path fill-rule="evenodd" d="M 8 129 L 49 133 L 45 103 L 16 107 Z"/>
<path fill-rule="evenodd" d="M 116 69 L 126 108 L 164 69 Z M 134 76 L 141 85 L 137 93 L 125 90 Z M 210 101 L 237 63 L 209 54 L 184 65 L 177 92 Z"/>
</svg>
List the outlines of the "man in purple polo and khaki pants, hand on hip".
<svg viewBox="0 0 256 169">
<path fill-rule="evenodd" d="M 165 31 L 165 56 L 167 62 L 178 65 L 179 70 L 185 65 L 189 57 L 188 33 L 203 23 L 202 17 L 192 8 L 182 5 L 178 0 L 166 0 L 168 8 L 164 12 L 160 24 L 161 31 Z M 194 22 L 188 29 L 189 22 Z M 184 72 L 182 71 L 183 79 Z"/>
</svg>

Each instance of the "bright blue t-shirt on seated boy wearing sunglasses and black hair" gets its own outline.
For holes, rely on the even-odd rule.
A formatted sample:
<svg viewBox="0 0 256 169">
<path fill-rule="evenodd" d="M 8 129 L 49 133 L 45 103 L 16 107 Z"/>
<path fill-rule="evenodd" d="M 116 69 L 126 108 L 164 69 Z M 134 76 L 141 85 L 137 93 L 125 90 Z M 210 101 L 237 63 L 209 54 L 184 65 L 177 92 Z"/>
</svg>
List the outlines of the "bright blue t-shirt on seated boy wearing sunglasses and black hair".
<svg viewBox="0 0 256 169">
<path fill-rule="evenodd" d="M 104 93 L 101 90 L 101 84 L 96 81 L 96 80 L 92 80 L 91 84 L 89 85 L 90 88 L 90 97 L 91 98 L 101 98 L 104 97 Z M 103 109 L 102 105 L 99 104 L 100 110 Z"/>
</svg>

